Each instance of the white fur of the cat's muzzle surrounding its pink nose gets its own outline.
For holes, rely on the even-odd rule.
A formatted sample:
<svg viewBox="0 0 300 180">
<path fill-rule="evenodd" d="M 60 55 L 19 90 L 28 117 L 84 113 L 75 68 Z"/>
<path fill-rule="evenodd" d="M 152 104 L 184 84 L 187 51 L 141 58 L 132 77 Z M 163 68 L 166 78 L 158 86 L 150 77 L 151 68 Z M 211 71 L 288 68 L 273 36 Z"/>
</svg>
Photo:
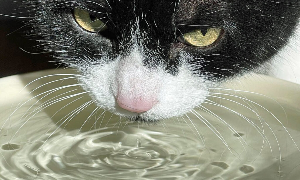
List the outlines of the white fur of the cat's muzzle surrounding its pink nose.
<svg viewBox="0 0 300 180">
<path fill-rule="evenodd" d="M 118 107 L 118 89 L 132 91 L 128 96 L 134 93 L 153 96 L 152 93 L 156 93 L 157 104 L 151 110 L 139 114 L 140 117 L 149 120 L 181 116 L 199 106 L 208 96 L 211 83 L 192 75 L 184 65 L 180 67 L 178 75 L 173 76 L 165 72 L 164 67 L 156 70 L 143 67 L 140 64 L 142 56 L 141 52 L 137 52 L 137 48 L 133 48 L 129 55 L 120 55 L 113 63 L 92 67 L 80 81 L 91 91 L 91 96 L 97 100 L 100 107 L 126 117 L 138 114 Z M 192 58 L 187 56 L 185 58 Z M 183 59 L 181 61 L 184 62 Z M 131 83 L 134 81 L 138 81 L 138 87 Z"/>
</svg>

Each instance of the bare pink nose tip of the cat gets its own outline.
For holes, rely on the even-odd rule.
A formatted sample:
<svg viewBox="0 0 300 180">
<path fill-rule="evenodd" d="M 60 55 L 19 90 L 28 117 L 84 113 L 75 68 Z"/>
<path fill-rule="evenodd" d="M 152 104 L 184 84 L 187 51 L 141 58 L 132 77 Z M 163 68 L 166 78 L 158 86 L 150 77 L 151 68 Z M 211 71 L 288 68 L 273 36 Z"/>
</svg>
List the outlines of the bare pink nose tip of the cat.
<svg viewBox="0 0 300 180">
<path fill-rule="evenodd" d="M 133 113 L 143 113 L 152 109 L 155 101 L 152 100 L 130 100 L 127 98 L 117 98 L 120 107 Z"/>
</svg>

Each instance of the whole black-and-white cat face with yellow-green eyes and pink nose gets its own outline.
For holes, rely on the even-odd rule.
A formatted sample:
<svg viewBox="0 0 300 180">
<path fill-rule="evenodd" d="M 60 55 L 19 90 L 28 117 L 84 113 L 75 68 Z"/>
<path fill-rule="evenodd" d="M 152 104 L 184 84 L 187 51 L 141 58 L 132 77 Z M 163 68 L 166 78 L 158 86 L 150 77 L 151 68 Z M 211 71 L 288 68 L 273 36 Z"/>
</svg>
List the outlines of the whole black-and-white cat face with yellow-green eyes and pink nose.
<svg viewBox="0 0 300 180">
<path fill-rule="evenodd" d="M 30 0 L 29 35 L 78 70 L 98 106 L 155 122 L 268 61 L 292 33 L 297 0 Z"/>
</svg>

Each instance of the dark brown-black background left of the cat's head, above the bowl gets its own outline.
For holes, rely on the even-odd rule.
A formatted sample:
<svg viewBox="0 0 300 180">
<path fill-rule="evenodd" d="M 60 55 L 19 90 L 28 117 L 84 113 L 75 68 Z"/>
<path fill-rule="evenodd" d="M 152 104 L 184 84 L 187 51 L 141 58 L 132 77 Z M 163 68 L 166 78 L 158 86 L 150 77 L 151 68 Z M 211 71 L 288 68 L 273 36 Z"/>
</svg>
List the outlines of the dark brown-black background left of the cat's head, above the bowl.
<svg viewBox="0 0 300 180">
<path fill-rule="evenodd" d="M 27 16 L 26 13 L 20 13 L 25 10 L 18 5 L 13 0 L 0 0 L 0 14 Z M 33 48 L 35 42 L 25 37 L 23 31 L 26 28 L 19 29 L 24 20 L 0 15 L 0 77 L 57 67 L 54 62 L 48 62 L 53 60 L 49 54 L 33 55 L 20 49 L 37 52 Z"/>
</svg>

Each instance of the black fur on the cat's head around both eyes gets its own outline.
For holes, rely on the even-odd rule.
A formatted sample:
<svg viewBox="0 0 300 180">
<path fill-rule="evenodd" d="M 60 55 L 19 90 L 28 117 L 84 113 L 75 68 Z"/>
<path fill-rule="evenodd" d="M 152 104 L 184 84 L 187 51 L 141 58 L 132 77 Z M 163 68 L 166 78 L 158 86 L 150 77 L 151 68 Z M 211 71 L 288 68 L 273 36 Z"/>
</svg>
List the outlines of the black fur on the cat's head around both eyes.
<svg viewBox="0 0 300 180">
<path fill-rule="evenodd" d="M 134 35 L 143 41 L 150 68 L 164 63 L 176 75 L 180 52 L 188 52 L 195 75 L 220 79 L 255 69 L 270 59 L 296 26 L 299 0 L 29 0 L 29 35 L 37 37 L 42 47 L 54 51 L 58 61 L 69 66 L 101 66 L 132 46 L 133 24 L 140 31 Z M 109 26 L 106 34 L 80 30 L 72 17 L 72 8 L 91 10 Z M 93 12 L 96 11 L 96 12 Z M 100 13 L 97 13 L 100 12 Z M 195 29 L 216 26 L 224 35 L 214 46 L 196 48 L 181 44 L 176 38 Z M 145 41 L 145 39 L 147 41 Z M 156 58 L 152 58 L 156 57 Z"/>
</svg>

